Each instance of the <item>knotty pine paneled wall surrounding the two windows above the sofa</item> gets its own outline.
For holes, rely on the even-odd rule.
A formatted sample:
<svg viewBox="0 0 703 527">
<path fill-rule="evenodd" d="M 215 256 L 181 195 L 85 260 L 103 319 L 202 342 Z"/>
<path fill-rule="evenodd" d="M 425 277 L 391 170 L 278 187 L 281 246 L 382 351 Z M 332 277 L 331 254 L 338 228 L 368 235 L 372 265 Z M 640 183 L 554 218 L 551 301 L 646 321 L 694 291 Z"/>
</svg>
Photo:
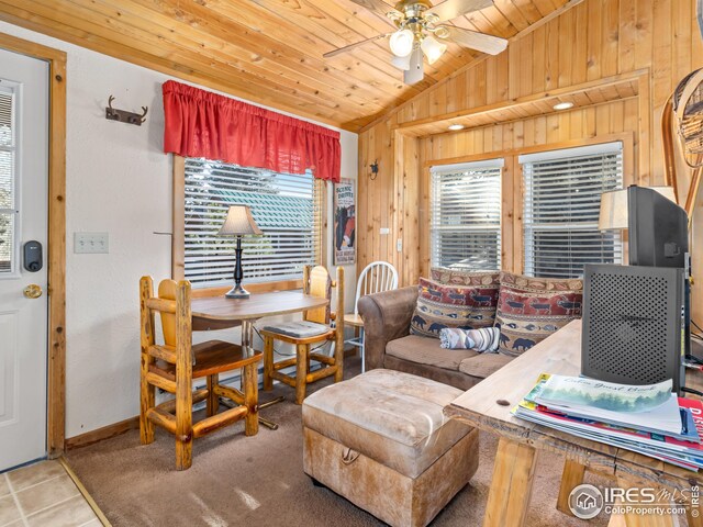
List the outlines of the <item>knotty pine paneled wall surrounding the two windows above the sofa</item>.
<svg viewBox="0 0 703 527">
<path fill-rule="evenodd" d="M 695 0 L 576 0 L 558 18 L 511 42 L 503 54 L 477 60 L 362 131 L 359 265 L 391 261 L 402 284 L 415 283 L 420 273 L 427 271 L 428 161 L 632 135 L 635 181 L 662 184 L 661 109 L 680 79 L 700 67 L 703 42 L 695 21 Z M 640 79 L 638 94 L 625 100 L 419 138 L 405 137 L 399 130 L 414 121 L 468 113 L 478 106 L 601 79 L 605 83 L 613 76 L 631 72 Z M 370 180 L 369 165 L 376 160 L 379 175 Z M 515 167 L 506 171 L 512 173 L 503 180 L 504 227 L 507 214 L 512 214 L 507 220 L 516 229 L 507 233 L 506 240 L 512 239 L 513 245 L 503 250 L 510 260 L 506 267 L 520 270 L 522 232 L 515 204 L 522 200 L 522 177 Z M 390 233 L 381 235 L 383 227 Z M 698 247 L 703 247 L 701 212 L 694 233 L 696 239 L 702 238 Z M 400 251 L 398 240 L 402 242 Z M 703 277 L 703 262 L 694 264 L 696 274 Z M 703 289 L 695 296 L 703 307 Z"/>
</svg>

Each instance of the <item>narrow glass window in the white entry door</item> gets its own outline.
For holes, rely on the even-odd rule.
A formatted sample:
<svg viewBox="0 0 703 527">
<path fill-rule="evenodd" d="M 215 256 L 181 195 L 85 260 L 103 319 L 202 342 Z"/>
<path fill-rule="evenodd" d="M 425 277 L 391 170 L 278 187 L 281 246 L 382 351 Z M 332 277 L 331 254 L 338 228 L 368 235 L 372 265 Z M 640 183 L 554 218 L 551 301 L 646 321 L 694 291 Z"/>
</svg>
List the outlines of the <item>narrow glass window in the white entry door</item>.
<svg viewBox="0 0 703 527">
<path fill-rule="evenodd" d="M 16 272 L 15 92 L 0 87 L 0 277 Z"/>
</svg>

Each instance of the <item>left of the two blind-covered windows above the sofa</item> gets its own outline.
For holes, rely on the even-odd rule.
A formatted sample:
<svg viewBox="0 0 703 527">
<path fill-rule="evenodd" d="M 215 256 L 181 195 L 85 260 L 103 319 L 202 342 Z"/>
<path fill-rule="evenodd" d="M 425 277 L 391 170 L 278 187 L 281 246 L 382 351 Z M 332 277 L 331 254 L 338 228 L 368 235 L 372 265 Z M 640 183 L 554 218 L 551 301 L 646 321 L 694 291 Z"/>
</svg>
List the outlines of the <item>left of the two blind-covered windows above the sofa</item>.
<svg viewBox="0 0 703 527">
<path fill-rule="evenodd" d="M 502 159 L 432 167 L 434 267 L 501 268 Z"/>
</svg>

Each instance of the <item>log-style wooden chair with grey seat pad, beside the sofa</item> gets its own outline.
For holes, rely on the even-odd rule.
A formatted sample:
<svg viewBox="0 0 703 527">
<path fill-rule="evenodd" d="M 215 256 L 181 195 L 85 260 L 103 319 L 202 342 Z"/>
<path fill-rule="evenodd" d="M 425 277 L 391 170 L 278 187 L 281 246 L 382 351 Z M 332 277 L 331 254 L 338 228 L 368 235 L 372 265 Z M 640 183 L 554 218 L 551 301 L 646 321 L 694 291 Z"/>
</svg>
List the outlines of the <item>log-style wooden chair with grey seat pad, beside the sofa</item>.
<svg viewBox="0 0 703 527">
<path fill-rule="evenodd" d="M 337 280 L 332 281 L 330 273 L 322 266 L 305 267 L 303 272 L 303 291 L 305 294 L 332 298 L 332 289 L 336 289 L 336 311 L 331 313 L 330 305 L 309 310 L 303 314 L 302 323 L 287 323 L 267 326 L 261 330 L 264 337 L 264 390 L 274 388 L 274 379 L 295 389 L 295 403 L 302 404 L 309 383 L 330 375 L 334 381 L 342 381 L 344 374 L 344 269 L 337 268 Z M 335 321 L 333 327 L 332 321 Z M 281 333 L 284 332 L 284 333 Z M 274 362 L 274 341 L 295 346 L 295 357 Z M 334 355 L 327 356 L 314 350 L 312 345 L 322 346 L 334 343 Z M 315 361 L 322 368 L 310 371 L 310 362 Z M 280 370 L 295 367 L 295 377 L 287 375 Z"/>
</svg>

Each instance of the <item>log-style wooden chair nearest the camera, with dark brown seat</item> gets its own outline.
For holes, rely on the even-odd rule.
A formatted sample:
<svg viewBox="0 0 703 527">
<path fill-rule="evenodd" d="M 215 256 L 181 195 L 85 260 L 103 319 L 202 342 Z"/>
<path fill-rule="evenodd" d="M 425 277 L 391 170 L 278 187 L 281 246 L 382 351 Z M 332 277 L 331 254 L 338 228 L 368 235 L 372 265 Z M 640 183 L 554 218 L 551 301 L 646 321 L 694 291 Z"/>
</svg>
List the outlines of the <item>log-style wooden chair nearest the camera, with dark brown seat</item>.
<svg viewBox="0 0 703 527">
<path fill-rule="evenodd" d="M 261 354 L 248 355 L 235 344 L 209 340 L 192 345 L 190 282 L 164 280 L 154 296 L 150 277 L 140 281 L 142 312 L 142 374 L 140 431 L 142 445 L 154 441 L 154 425 L 176 436 L 176 468 L 192 464 L 192 440 L 223 426 L 245 419 L 245 434 L 258 431 L 258 362 Z M 164 344 L 156 344 L 154 315 L 159 313 Z M 250 351 L 249 351 L 250 354 Z M 242 369 L 244 393 L 220 385 L 220 373 Z M 207 388 L 192 390 L 193 379 L 207 379 Z M 176 394 L 155 404 L 154 389 Z M 235 403 L 217 414 L 220 397 Z M 207 401 L 207 417 L 193 423 L 192 406 Z"/>
</svg>

